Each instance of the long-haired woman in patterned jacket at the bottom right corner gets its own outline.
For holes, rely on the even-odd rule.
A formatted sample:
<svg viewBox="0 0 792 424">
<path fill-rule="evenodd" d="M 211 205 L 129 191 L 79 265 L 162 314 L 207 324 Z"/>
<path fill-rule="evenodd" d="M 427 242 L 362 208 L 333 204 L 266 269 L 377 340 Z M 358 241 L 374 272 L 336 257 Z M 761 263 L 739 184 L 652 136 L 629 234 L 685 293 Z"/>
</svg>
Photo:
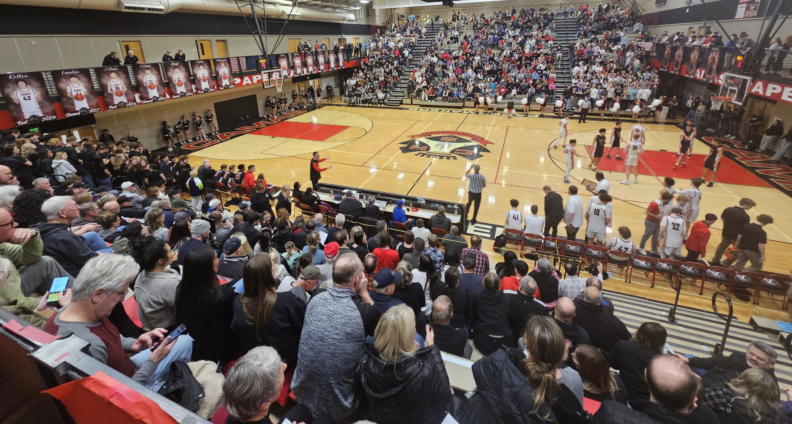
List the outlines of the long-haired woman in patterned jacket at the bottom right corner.
<svg viewBox="0 0 792 424">
<path fill-rule="evenodd" d="M 782 422 L 779 394 L 779 384 L 770 374 L 749 368 L 728 383 L 707 388 L 701 403 L 721 422 Z"/>
</svg>

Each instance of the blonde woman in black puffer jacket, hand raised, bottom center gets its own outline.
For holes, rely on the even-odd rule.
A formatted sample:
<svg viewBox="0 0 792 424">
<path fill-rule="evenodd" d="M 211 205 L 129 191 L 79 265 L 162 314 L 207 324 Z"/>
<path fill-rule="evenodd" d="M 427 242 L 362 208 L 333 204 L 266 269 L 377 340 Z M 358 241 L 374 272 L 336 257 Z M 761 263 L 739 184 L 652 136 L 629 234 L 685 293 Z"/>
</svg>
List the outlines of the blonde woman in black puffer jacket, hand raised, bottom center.
<svg viewBox="0 0 792 424">
<path fill-rule="evenodd" d="M 388 309 L 375 329 L 374 345 L 365 346 L 360 373 L 367 417 L 379 424 L 440 423 L 450 408 L 451 384 L 440 349 L 431 329 L 424 347 L 416 346 L 414 321 L 406 305 Z"/>
</svg>

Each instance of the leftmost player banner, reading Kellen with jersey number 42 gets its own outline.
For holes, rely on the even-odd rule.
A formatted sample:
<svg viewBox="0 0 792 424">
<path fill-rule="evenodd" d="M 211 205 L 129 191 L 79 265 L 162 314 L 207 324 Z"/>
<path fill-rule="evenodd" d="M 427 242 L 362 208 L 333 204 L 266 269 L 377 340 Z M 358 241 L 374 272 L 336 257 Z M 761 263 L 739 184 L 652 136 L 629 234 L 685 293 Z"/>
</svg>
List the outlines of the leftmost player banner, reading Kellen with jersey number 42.
<svg viewBox="0 0 792 424">
<path fill-rule="evenodd" d="M 2 74 L 0 91 L 17 126 L 58 119 L 40 72 Z"/>
</svg>

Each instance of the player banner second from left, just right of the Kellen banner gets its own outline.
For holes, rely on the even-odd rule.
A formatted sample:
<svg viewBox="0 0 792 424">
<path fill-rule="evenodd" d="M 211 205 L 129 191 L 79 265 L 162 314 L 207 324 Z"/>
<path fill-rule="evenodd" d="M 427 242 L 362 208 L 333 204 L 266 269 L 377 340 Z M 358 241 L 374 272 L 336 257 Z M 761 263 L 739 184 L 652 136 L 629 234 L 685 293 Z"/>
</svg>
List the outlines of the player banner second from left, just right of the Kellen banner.
<svg viewBox="0 0 792 424">
<path fill-rule="evenodd" d="M 93 92 L 88 68 L 51 70 L 50 74 L 67 118 L 99 112 L 99 100 Z"/>
</svg>

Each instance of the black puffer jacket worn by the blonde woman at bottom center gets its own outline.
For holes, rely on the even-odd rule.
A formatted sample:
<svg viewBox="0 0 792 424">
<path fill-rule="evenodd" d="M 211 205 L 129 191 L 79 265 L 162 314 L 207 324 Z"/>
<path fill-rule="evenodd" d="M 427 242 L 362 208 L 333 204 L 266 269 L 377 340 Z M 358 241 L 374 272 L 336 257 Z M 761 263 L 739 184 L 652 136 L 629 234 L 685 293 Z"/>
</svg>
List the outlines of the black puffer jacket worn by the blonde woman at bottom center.
<svg viewBox="0 0 792 424">
<path fill-rule="evenodd" d="M 368 418 L 379 424 L 440 423 L 451 403 L 443 358 L 437 346 L 418 350 L 396 364 L 385 362 L 370 343 L 360 362 Z"/>
</svg>

